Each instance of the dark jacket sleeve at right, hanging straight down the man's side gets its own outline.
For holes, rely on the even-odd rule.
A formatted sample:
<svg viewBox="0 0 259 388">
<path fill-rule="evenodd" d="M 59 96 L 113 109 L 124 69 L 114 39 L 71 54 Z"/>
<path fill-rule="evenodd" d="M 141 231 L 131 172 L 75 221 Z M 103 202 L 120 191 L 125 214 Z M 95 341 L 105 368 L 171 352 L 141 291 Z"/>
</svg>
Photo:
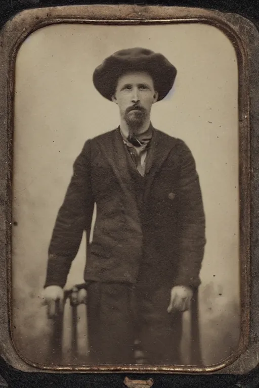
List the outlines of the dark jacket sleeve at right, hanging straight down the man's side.
<svg viewBox="0 0 259 388">
<path fill-rule="evenodd" d="M 205 215 L 195 161 L 186 144 L 179 140 L 178 184 L 179 266 L 176 285 L 197 287 L 205 246 Z"/>
</svg>

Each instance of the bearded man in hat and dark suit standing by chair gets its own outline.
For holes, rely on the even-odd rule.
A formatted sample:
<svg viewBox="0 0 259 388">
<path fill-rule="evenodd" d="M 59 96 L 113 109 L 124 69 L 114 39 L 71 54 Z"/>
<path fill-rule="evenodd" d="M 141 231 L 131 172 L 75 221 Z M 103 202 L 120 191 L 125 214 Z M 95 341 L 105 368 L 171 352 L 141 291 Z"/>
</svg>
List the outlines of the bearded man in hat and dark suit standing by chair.
<svg viewBox="0 0 259 388">
<path fill-rule="evenodd" d="M 176 73 L 164 56 L 141 48 L 111 55 L 94 72 L 97 90 L 118 105 L 120 124 L 86 141 L 74 163 L 44 291 L 49 304 L 63 299 L 96 203 L 84 273 L 92 363 L 134 363 L 136 338 L 146 362 L 181 362 L 182 312 L 200 283 L 204 212 L 190 150 L 150 121 Z"/>
</svg>

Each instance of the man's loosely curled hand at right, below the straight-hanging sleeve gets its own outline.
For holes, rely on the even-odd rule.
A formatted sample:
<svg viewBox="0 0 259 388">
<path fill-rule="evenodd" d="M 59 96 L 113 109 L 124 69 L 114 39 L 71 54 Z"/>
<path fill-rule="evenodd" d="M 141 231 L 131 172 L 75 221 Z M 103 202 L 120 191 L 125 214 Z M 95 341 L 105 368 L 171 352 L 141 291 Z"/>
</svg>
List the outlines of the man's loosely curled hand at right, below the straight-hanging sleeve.
<svg viewBox="0 0 259 388">
<path fill-rule="evenodd" d="M 171 299 L 167 312 L 171 311 L 187 311 L 191 307 L 191 299 L 193 297 L 193 290 L 184 285 L 176 285 L 171 289 Z"/>
</svg>

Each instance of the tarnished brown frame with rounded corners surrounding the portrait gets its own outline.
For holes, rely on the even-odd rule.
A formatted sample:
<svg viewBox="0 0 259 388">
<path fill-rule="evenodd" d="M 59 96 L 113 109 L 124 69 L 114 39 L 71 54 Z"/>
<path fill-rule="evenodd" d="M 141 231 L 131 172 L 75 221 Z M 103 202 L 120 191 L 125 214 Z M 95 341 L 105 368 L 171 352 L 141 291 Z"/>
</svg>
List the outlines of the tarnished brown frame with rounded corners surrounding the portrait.
<svg viewBox="0 0 259 388">
<path fill-rule="evenodd" d="M 190 16 L 191 15 L 191 16 Z M 234 20 L 233 20 L 234 19 Z M 233 23 L 236 22 L 235 23 Z M 4 27 L 1 34 L 1 68 L 0 79 L 1 101 L 5 106 L 0 113 L 1 133 L 0 139 L 5 158 L 5 168 L 0 171 L 1 180 L 6 187 L 5 209 L 1 214 L 1 230 L 5 232 L 4 245 L 6 250 L 2 250 L 2 268 L 6 265 L 7 276 L 4 279 L 3 273 L 0 275 L 2 281 L 2 295 L 8 302 L 8 309 L 0 310 L 0 325 L 3 326 L 5 336 L 8 334 L 8 344 L 3 342 L 1 346 L 4 359 L 21 370 L 26 371 L 87 371 L 87 372 L 153 372 L 153 373 L 212 373 L 227 372 L 233 367 L 233 362 L 240 358 L 248 345 L 249 334 L 249 296 L 250 296 L 250 139 L 249 139 L 249 69 L 251 67 L 251 56 L 247 50 L 246 36 L 240 36 L 239 24 L 245 23 L 246 28 L 250 28 L 253 34 L 257 31 L 251 22 L 235 14 L 223 14 L 218 11 L 206 11 L 191 8 L 179 7 L 140 7 L 140 6 L 66 6 L 44 9 L 32 9 L 23 11 L 16 15 Z M 239 153 L 240 153 L 240 257 L 241 257 L 241 340 L 238 351 L 233 356 L 227 358 L 220 364 L 196 367 L 175 367 L 175 366 L 54 366 L 33 364 L 31 361 L 18 356 L 12 338 L 12 292 L 11 292 L 11 230 L 12 230 L 12 156 L 13 156 L 13 108 L 14 108 L 14 84 L 15 84 L 15 59 L 19 47 L 25 38 L 33 31 L 51 24 L 58 23 L 92 23 L 92 24 L 161 24 L 161 23 L 206 23 L 221 29 L 231 40 L 235 47 L 239 64 Z M 256 31 L 256 33 L 255 33 Z M 258 34 L 257 34 L 258 35 Z M 258 36 L 257 36 L 258 37 Z M 258 94 L 258 92 L 257 92 Z M 3 142 L 5 138 L 5 141 Z M 6 175 L 3 174 L 5 171 Z M 3 222 L 5 219 L 5 223 Z M 2 237 L 2 236 L 1 236 Z M 2 244 L 1 244 L 2 245 Z M 2 247 L 1 247 L 2 248 Z M 3 247 L 4 248 L 4 247 Z M 6 252 L 5 252 L 6 251 Z M 5 254 L 6 253 L 6 254 Z M 6 275 L 6 274 L 5 274 Z M 4 286 L 5 286 L 5 289 Z M 7 293 L 8 289 L 8 293 Z M 4 295 L 3 295 L 4 297 Z M 7 306 L 6 306 L 7 307 Z M 4 314 L 3 314 L 4 313 Z M 2 317 L 4 315 L 4 317 Z M 9 315 L 9 316 L 8 316 Z M 4 319 L 2 319 L 4 318 Z M 5 322 L 3 322 L 5 321 Z M 8 327 L 8 333 L 7 331 Z M 1 331 L 2 332 L 2 331 Z M 254 345 L 254 344 L 253 344 Z M 21 359 L 22 367 L 21 365 Z M 257 361 L 257 360 L 256 360 Z M 237 361 L 235 362 L 235 364 Z M 231 365 L 232 364 L 232 365 Z M 256 362 L 257 364 L 257 362 Z M 256 365 L 254 364 L 254 366 Z M 33 368 L 31 368 L 30 366 Z M 253 365 L 249 365 L 251 369 Z M 224 369 L 223 369 L 224 368 Z M 233 369 L 233 368 L 232 368 Z"/>
</svg>

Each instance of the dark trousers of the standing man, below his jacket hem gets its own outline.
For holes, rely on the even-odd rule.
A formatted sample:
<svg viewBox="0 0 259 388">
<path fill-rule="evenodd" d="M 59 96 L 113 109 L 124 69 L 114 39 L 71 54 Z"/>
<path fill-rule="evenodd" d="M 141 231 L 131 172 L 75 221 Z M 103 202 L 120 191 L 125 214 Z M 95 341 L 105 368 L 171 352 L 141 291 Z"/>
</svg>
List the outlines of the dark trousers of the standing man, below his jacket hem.
<svg viewBox="0 0 259 388">
<path fill-rule="evenodd" d="M 167 313 L 170 287 L 139 281 L 91 282 L 88 337 L 91 363 L 134 364 L 138 338 L 147 363 L 181 363 L 182 313 Z"/>
</svg>

